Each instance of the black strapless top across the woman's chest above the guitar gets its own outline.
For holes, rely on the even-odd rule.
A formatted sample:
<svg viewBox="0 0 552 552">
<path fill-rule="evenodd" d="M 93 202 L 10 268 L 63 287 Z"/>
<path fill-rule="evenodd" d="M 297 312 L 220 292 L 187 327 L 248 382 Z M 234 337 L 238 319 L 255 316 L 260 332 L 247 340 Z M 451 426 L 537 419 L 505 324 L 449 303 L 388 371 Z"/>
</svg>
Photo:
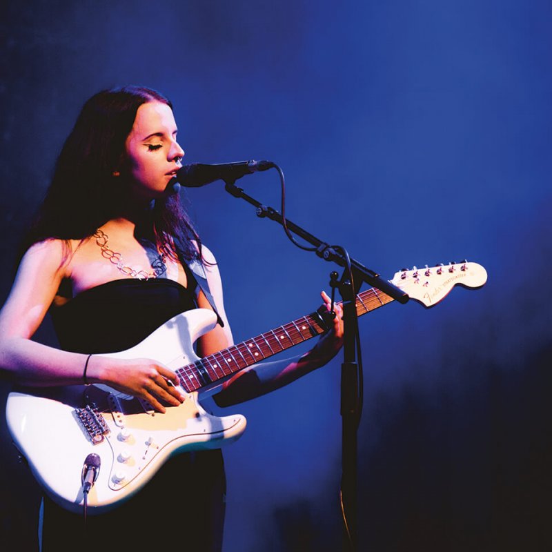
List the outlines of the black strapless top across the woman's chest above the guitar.
<svg viewBox="0 0 552 552">
<path fill-rule="evenodd" d="M 197 308 L 195 280 L 190 288 L 166 278 L 117 279 L 52 307 L 59 345 L 74 353 L 125 351 L 168 319 Z"/>
</svg>

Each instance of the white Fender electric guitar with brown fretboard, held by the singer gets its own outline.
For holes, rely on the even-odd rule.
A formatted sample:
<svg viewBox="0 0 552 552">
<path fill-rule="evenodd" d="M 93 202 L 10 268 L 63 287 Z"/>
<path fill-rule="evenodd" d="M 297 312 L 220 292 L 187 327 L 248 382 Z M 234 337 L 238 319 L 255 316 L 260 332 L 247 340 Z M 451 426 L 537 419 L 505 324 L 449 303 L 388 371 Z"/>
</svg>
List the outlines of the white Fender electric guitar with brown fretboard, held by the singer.
<svg viewBox="0 0 552 552">
<path fill-rule="evenodd" d="M 391 282 L 431 307 L 457 284 L 479 288 L 486 282 L 486 271 L 471 262 L 452 263 L 402 270 Z M 357 295 L 357 315 L 392 301 L 368 289 Z M 88 495 L 88 513 L 103 513 L 137 493 L 170 455 L 217 449 L 236 440 L 244 433 L 246 419 L 210 415 L 201 407 L 201 397 L 216 393 L 230 375 L 325 331 L 315 312 L 200 359 L 193 343 L 216 322 L 213 311 L 198 308 L 170 319 L 127 351 L 105 355 L 153 358 L 175 371 L 186 400 L 164 414 L 101 384 L 10 393 L 6 418 L 14 444 L 57 504 L 81 511 L 81 471 L 90 453 L 99 456 L 101 466 Z"/>
</svg>

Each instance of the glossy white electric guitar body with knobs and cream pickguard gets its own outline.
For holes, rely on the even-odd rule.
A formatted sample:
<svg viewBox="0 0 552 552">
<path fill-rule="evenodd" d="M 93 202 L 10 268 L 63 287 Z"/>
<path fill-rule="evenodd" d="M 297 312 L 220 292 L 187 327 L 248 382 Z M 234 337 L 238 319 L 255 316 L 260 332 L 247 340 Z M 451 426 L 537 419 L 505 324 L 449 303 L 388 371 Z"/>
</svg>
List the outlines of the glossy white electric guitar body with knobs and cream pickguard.
<svg viewBox="0 0 552 552">
<path fill-rule="evenodd" d="M 198 360 L 193 343 L 215 324 L 212 311 L 188 311 L 137 346 L 104 356 L 153 358 L 176 370 Z M 99 455 L 88 513 L 103 513 L 137 493 L 171 455 L 217 449 L 242 435 L 243 416 L 215 417 L 202 408 L 201 397 L 214 388 L 187 393 L 180 406 L 168 406 L 164 414 L 103 385 L 33 388 L 10 393 L 6 418 L 34 477 L 70 511 L 82 510 L 84 460 L 90 453 Z"/>
</svg>

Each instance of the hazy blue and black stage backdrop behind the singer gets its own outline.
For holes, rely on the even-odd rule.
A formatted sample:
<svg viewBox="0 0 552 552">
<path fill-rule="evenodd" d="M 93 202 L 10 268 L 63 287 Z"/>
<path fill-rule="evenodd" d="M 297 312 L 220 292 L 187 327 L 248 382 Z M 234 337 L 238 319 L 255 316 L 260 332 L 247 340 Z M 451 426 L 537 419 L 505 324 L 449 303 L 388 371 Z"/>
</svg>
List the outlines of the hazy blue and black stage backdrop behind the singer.
<svg viewBox="0 0 552 552">
<path fill-rule="evenodd" d="M 185 162 L 275 161 L 288 218 L 368 268 L 489 273 L 359 321 L 360 550 L 551 549 L 551 16 L 521 0 L 6 3 L 1 299 L 83 101 L 157 88 Z M 279 209 L 275 171 L 239 185 Z M 182 197 L 237 342 L 319 306 L 333 265 L 222 182 Z M 232 409 L 248 429 L 225 453 L 225 552 L 341 546 L 341 361 Z M 39 491 L 5 425 L 2 449 L 1 542 L 32 550 Z"/>
</svg>

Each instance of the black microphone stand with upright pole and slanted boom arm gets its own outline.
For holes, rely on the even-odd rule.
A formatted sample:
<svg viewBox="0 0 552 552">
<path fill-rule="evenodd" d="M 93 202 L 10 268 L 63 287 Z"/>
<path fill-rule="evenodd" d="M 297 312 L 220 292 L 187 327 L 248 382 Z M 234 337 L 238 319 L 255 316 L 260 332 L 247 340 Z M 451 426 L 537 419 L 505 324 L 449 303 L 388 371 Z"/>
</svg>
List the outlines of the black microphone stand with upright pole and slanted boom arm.
<svg viewBox="0 0 552 552">
<path fill-rule="evenodd" d="M 259 203 L 256 199 L 244 193 L 242 188 L 235 186 L 235 180 L 226 180 L 225 189 L 230 195 L 242 198 L 257 208 L 257 217 L 278 222 L 284 226 L 284 219 L 277 210 Z M 404 304 L 408 301 L 408 295 L 397 288 L 391 282 L 355 261 L 346 258 L 342 253 L 322 242 L 286 219 L 286 226 L 293 233 L 302 237 L 313 245 L 315 253 L 328 262 L 334 262 L 345 267 L 342 278 L 337 281 L 337 273 L 331 274 L 330 285 L 338 288 L 343 299 L 343 324 L 344 324 L 344 362 L 342 364 L 341 378 L 341 415 L 342 415 L 342 514 L 343 550 L 344 552 L 357 551 L 357 428 L 359 425 L 359 371 L 356 361 L 356 346 L 358 326 L 356 297 L 359 288 L 355 288 L 356 282 L 366 282 L 368 285 L 381 290 L 383 293 L 398 302 Z M 349 273 L 348 267 L 351 268 Z M 333 293 L 332 293 L 333 302 Z"/>
</svg>

